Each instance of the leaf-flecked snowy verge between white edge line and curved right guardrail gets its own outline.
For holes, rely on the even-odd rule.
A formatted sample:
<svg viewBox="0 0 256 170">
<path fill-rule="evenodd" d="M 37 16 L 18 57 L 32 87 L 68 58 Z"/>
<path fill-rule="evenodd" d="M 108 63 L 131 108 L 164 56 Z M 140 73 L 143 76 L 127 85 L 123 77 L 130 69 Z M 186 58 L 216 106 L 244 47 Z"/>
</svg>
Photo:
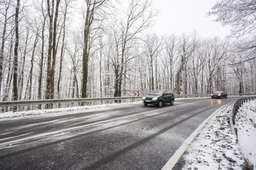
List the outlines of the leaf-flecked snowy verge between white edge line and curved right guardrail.
<svg viewBox="0 0 256 170">
<path fill-rule="evenodd" d="M 232 105 L 213 116 L 186 149 L 183 169 L 242 169 L 238 140 L 228 123 Z"/>
</svg>

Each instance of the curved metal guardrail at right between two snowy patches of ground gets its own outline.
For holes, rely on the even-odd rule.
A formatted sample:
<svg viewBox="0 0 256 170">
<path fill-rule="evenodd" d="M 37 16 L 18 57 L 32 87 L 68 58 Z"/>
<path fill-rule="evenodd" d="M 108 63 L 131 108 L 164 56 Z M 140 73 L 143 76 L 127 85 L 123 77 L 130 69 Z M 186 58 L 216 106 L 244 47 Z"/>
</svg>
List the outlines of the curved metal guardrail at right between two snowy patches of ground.
<svg viewBox="0 0 256 170">
<path fill-rule="evenodd" d="M 233 108 L 232 111 L 230 113 L 230 128 L 233 132 L 234 135 L 236 135 L 236 137 L 238 138 L 238 128 L 235 128 L 235 116 L 238 113 L 238 108 L 240 108 L 240 106 L 242 106 L 243 103 L 250 101 L 250 100 L 255 100 L 256 96 L 252 96 L 252 97 L 246 97 L 246 98 L 239 98 L 238 100 L 235 101 L 235 103 L 233 104 Z M 253 169 L 253 164 L 249 162 L 249 160 L 245 159 L 245 166 L 247 167 L 247 169 Z"/>
</svg>

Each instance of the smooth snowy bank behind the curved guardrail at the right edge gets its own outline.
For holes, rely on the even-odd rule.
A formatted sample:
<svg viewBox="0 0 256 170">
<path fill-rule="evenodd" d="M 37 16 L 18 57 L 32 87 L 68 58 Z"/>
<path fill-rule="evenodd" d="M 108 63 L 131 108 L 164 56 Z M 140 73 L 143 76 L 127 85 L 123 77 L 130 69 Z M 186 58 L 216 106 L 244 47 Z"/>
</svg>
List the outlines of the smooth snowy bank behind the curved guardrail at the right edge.
<svg viewBox="0 0 256 170">
<path fill-rule="evenodd" d="M 247 101 L 238 109 L 235 127 L 243 156 L 256 167 L 256 100 Z"/>
</svg>

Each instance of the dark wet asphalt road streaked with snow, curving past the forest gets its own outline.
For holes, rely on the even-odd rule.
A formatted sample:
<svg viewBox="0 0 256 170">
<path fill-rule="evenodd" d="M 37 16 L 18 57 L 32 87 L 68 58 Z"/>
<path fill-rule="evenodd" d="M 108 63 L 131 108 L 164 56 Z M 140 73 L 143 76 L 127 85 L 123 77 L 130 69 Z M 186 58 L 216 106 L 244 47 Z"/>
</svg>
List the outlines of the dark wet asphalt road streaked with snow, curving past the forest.
<svg viewBox="0 0 256 170">
<path fill-rule="evenodd" d="M 0 169 L 161 169 L 203 120 L 236 99 L 2 119 Z"/>
</svg>

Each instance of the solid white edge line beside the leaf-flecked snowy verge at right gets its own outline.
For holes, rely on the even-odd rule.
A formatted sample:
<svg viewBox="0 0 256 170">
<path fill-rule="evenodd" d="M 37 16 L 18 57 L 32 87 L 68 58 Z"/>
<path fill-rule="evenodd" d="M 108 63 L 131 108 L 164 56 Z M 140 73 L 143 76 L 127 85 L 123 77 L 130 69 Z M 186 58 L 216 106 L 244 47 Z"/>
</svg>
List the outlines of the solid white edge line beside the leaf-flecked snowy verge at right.
<svg viewBox="0 0 256 170">
<path fill-rule="evenodd" d="M 196 137 L 196 135 L 198 135 L 198 132 L 200 132 L 201 129 L 206 125 L 206 123 L 208 123 L 208 120 L 210 120 L 210 118 L 212 118 L 213 115 L 215 115 L 221 109 L 223 109 L 224 107 L 226 107 L 228 105 L 230 105 L 230 103 L 222 106 L 221 108 L 218 108 L 218 110 L 216 110 L 211 115 L 209 115 L 209 117 L 206 118 L 206 120 L 204 120 L 203 123 L 201 123 L 201 125 L 199 125 L 198 128 L 196 128 L 196 130 L 193 131 L 193 133 L 183 142 L 181 147 L 179 147 L 178 150 L 176 150 L 174 155 L 169 159 L 169 161 L 164 165 L 164 167 L 161 170 L 171 170 L 171 169 L 173 169 L 174 166 L 176 165 L 176 163 L 178 162 L 178 159 L 181 158 L 182 154 L 185 152 L 188 145 L 190 145 L 191 142 L 193 141 L 193 139 Z"/>
</svg>

